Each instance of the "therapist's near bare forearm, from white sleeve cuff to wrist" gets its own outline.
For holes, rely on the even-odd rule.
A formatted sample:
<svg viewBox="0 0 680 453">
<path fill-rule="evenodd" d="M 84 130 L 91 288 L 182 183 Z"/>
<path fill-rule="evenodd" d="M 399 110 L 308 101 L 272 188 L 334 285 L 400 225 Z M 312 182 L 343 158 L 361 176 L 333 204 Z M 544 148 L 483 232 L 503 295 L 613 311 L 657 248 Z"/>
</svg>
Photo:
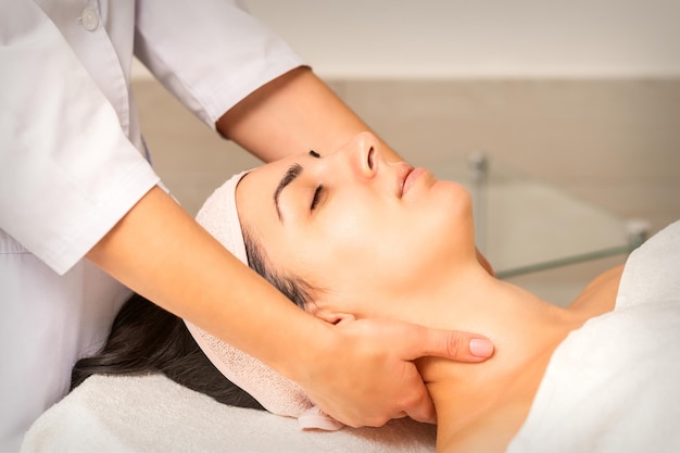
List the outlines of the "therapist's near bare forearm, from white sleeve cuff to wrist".
<svg viewBox="0 0 680 453">
<path fill-rule="evenodd" d="M 158 187 L 87 257 L 165 310 L 286 375 L 291 363 L 307 358 L 299 345 L 328 332 Z"/>
</svg>

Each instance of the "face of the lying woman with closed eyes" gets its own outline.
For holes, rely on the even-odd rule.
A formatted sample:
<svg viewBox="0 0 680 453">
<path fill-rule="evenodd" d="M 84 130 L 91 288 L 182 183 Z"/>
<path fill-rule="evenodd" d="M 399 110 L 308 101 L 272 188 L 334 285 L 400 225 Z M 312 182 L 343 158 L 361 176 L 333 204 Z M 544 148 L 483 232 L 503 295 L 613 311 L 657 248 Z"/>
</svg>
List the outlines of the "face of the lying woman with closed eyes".
<svg viewBox="0 0 680 453">
<path fill-rule="evenodd" d="M 476 260 L 468 192 L 424 168 L 388 163 L 379 147 L 360 134 L 332 154 L 277 161 L 238 185 L 243 229 L 273 269 L 323 290 L 319 310 L 385 315 L 378 302 Z"/>
</svg>

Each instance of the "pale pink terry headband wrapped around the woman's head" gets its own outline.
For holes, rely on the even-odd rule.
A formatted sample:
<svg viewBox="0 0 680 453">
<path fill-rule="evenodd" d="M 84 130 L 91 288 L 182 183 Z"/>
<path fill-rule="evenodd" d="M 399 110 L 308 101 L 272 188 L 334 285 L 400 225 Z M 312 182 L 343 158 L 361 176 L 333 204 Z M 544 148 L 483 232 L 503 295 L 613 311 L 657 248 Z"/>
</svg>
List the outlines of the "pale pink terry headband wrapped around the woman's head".
<svg viewBox="0 0 680 453">
<path fill-rule="evenodd" d="M 234 175 L 203 203 L 197 222 L 242 263 L 248 264 L 236 207 L 236 187 L 248 172 Z M 342 424 L 317 410 L 302 388 L 255 357 L 185 320 L 191 336 L 215 367 L 267 411 L 299 419 L 303 429 L 337 430 Z"/>
</svg>

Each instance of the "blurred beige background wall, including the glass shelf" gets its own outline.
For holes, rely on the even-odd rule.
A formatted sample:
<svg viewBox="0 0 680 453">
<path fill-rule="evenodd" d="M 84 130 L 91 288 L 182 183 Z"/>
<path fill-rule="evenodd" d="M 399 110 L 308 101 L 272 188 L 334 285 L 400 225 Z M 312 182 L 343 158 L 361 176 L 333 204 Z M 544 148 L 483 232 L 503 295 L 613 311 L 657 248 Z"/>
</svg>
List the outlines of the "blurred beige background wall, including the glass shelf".
<svg viewBox="0 0 680 453">
<path fill-rule="evenodd" d="M 677 0 L 242 3 L 403 158 L 467 184 L 494 268 L 547 300 L 680 218 Z M 133 87 L 154 167 L 190 214 L 257 164 L 139 65 Z"/>
</svg>

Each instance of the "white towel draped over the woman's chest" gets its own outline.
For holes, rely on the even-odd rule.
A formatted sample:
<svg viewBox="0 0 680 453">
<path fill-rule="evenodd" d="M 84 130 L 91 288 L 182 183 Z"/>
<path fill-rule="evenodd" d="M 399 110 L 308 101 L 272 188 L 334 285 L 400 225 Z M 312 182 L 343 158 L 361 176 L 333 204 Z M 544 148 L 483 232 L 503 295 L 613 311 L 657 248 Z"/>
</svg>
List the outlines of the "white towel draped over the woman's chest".
<svg viewBox="0 0 680 453">
<path fill-rule="evenodd" d="M 615 311 L 557 348 L 507 452 L 680 452 L 680 222 L 628 259 Z"/>
</svg>

